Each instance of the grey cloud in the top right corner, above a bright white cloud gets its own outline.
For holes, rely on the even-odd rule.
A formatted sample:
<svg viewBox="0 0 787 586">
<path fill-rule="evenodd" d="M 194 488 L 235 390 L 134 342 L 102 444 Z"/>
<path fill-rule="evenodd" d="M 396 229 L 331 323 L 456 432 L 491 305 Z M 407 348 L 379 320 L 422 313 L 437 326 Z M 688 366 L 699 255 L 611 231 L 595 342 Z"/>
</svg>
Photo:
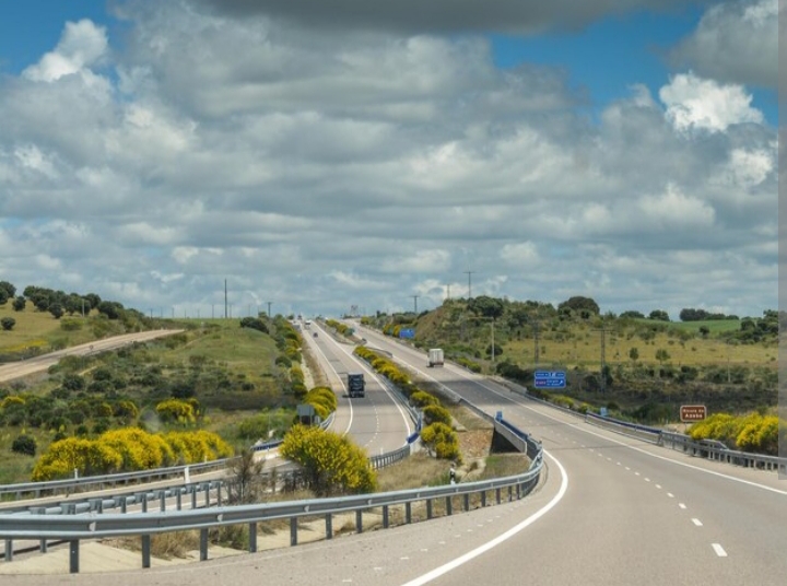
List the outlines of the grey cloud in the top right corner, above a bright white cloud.
<svg viewBox="0 0 787 586">
<path fill-rule="evenodd" d="M 775 89 L 779 0 L 737 0 L 708 8 L 696 30 L 672 51 L 679 67 L 723 83 Z"/>
</svg>

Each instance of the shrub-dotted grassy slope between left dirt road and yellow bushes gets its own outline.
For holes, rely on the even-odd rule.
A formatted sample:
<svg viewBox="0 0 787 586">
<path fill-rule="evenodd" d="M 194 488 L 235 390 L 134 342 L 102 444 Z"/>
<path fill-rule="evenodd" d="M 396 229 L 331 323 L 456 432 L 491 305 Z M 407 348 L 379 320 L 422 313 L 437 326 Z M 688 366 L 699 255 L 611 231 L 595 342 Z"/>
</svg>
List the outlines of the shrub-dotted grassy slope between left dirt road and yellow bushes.
<svg viewBox="0 0 787 586">
<path fill-rule="evenodd" d="M 40 317 L 25 314 L 21 316 Z M 94 319 L 101 318 L 86 318 L 82 331 L 91 331 Z M 17 324 L 32 329 L 33 321 Z M 40 339 L 59 336 L 45 320 L 38 324 Z M 281 435 L 297 402 L 290 376 L 297 356 L 282 343 L 286 320 L 270 321 L 270 333 L 242 328 L 237 319 L 178 320 L 171 326 L 187 331 L 115 352 L 69 358 L 44 377 L 0 384 L 0 483 L 30 479 L 35 457 L 11 450 L 20 435 L 35 438 L 36 457 L 61 437 L 96 437 L 134 425 L 151 432 L 216 431 L 238 446 L 271 431 Z M 196 420 L 162 419 L 156 406 L 172 398 L 196 401 Z"/>
</svg>

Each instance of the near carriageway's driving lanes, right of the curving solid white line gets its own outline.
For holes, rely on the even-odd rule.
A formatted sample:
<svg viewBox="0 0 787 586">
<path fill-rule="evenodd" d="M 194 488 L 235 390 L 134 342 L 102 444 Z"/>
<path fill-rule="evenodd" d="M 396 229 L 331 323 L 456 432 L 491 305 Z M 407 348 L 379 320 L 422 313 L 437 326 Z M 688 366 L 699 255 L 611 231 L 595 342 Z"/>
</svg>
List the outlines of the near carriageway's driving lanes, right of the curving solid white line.
<svg viewBox="0 0 787 586">
<path fill-rule="evenodd" d="M 377 337 L 374 343 L 413 367 L 424 364 L 419 352 Z M 626 438 L 449 365 L 424 371 L 542 440 L 568 478 L 549 523 L 468 563 L 462 583 L 488 581 L 490 572 L 503 584 L 521 576 L 528 584 L 787 582 L 787 483 L 775 472 Z M 435 584 L 457 582 L 446 575 Z"/>
</svg>

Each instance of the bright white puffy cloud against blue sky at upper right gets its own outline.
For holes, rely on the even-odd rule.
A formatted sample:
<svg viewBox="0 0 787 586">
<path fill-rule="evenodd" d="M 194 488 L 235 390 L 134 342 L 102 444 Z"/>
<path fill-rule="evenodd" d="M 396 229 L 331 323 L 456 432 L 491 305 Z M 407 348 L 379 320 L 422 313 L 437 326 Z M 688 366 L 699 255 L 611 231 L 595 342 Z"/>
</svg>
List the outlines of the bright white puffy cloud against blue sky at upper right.
<svg viewBox="0 0 787 586">
<path fill-rule="evenodd" d="M 659 97 L 678 130 L 719 131 L 735 124 L 763 121 L 763 114 L 751 107 L 752 96 L 741 85 L 723 85 L 691 72 L 674 75 L 661 87 Z"/>
</svg>

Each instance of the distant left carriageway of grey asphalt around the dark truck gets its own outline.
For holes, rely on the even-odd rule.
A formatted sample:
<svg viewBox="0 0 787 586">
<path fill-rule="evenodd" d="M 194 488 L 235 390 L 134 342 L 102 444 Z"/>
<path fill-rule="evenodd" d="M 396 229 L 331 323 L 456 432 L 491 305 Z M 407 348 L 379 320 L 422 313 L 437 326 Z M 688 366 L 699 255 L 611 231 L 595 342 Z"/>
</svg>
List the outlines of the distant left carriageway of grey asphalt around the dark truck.
<svg viewBox="0 0 787 586">
<path fill-rule="evenodd" d="M 315 331 L 319 333 L 317 338 L 312 336 Z M 316 323 L 312 323 L 310 329 L 304 330 L 304 339 L 317 354 L 331 387 L 339 395 L 333 431 L 342 435 L 350 434 L 369 456 L 402 447 L 407 437 L 413 433 L 413 422 L 374 371 L 352 354 L 354 347 L 337 341 Z M 348 372 L 364 373 L 365 397 L 350 399 L 346 396 Z"/>
</svg>

